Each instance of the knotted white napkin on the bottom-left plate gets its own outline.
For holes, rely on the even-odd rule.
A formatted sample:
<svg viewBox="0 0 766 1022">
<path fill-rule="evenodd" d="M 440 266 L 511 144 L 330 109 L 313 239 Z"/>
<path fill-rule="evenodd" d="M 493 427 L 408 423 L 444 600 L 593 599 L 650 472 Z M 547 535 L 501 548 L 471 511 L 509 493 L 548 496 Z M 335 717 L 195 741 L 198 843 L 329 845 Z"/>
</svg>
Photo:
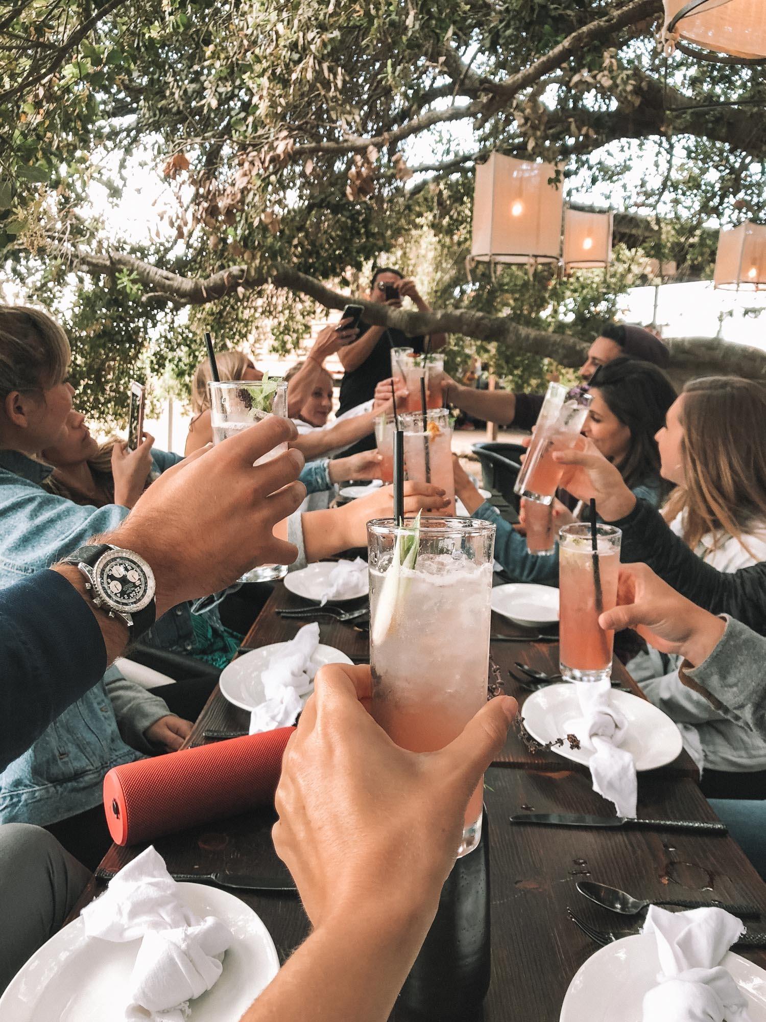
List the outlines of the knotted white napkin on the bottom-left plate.
<svg viewBox="0 0 766 1022">
<path fill-rule="evenodd" d="M 183 1022 L 189 1002 L 220 978 L 224 951 L 234 940 L 221 920 L 200 919 L 179 899 L 178 884 L 152 846 L 124 867 L 82 917 L 88 938 L 143 938 L 126 1020 Z"/>
</svg>

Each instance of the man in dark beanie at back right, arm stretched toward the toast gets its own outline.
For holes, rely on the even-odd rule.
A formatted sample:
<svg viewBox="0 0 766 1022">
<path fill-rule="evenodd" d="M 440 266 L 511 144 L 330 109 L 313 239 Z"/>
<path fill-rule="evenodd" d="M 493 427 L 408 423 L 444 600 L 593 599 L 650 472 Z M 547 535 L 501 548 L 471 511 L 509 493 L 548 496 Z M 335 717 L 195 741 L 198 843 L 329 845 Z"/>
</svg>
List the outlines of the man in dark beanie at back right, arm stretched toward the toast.
<svg viewBox="0 0 766 1022">
<path fill-rule="evenodd" d="M 670 362 L 667 347 L 649 330 L 623 323 L 605 323 L 601 333 L 590 345 L 588 357 L 580 369 L 580 376 L 587 382 L 599 366 L 606 366 L 615 359 L 628 357 L 653 363 L 661 369 Z M 444 376 L 444 404 L 454 405 L 469 415 L 515 425 L 518 429 L 531 429 L 540 414 L 544 394 L 510 393 L 508 390 L 476 390 L 460 386 Z"/>
</svg>

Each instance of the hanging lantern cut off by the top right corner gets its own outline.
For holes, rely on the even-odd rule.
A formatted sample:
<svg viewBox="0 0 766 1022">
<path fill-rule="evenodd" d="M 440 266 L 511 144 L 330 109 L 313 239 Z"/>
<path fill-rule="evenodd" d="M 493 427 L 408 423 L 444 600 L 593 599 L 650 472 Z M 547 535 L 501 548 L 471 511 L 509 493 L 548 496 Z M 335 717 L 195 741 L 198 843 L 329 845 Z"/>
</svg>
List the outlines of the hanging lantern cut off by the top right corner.
<svg viewBox="0 0 766 1022">
<path fill-rule="evenodd" d="M 745 60 L 766 57 L 763 0 L 665 0 L 664 38 Z"/>
</svg>

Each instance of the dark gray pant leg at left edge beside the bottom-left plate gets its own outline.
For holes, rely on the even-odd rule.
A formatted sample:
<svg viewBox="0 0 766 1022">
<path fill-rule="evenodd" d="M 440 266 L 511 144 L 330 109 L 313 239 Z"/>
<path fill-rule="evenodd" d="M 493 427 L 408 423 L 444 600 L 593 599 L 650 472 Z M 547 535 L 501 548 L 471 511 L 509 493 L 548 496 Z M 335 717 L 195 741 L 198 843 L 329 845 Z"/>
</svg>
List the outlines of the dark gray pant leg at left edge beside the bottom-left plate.
<svg viewBox="0 0 766 1022">
<path fill-rule="evenodd" d="M 0 824 L 0 993 L 58 930 L 89 879 L 42 827 Z"/>
</svg>

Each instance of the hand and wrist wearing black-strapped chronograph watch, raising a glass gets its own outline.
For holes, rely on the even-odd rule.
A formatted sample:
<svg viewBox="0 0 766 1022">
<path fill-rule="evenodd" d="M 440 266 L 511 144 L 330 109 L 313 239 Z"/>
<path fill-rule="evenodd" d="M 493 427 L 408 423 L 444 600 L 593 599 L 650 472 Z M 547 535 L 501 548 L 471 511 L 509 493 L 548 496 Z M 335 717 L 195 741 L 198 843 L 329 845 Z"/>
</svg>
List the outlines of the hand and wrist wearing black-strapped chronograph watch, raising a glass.
<svg viewBox="0 0 766 1022">
<path fill-rule="evenodd" d="M 274 527 L 305 497 L 303 456 L 289 450 L 254 462 L 296 435 L 289 419 L 272 416 L 202 448 L 152 482 L 114 531 L 91 541 L 100 553 L 81 548 L 54 567 L 91 606 L 109 662 L 172 607 L 256 564 L 295 560 Z"/>
</svg>

